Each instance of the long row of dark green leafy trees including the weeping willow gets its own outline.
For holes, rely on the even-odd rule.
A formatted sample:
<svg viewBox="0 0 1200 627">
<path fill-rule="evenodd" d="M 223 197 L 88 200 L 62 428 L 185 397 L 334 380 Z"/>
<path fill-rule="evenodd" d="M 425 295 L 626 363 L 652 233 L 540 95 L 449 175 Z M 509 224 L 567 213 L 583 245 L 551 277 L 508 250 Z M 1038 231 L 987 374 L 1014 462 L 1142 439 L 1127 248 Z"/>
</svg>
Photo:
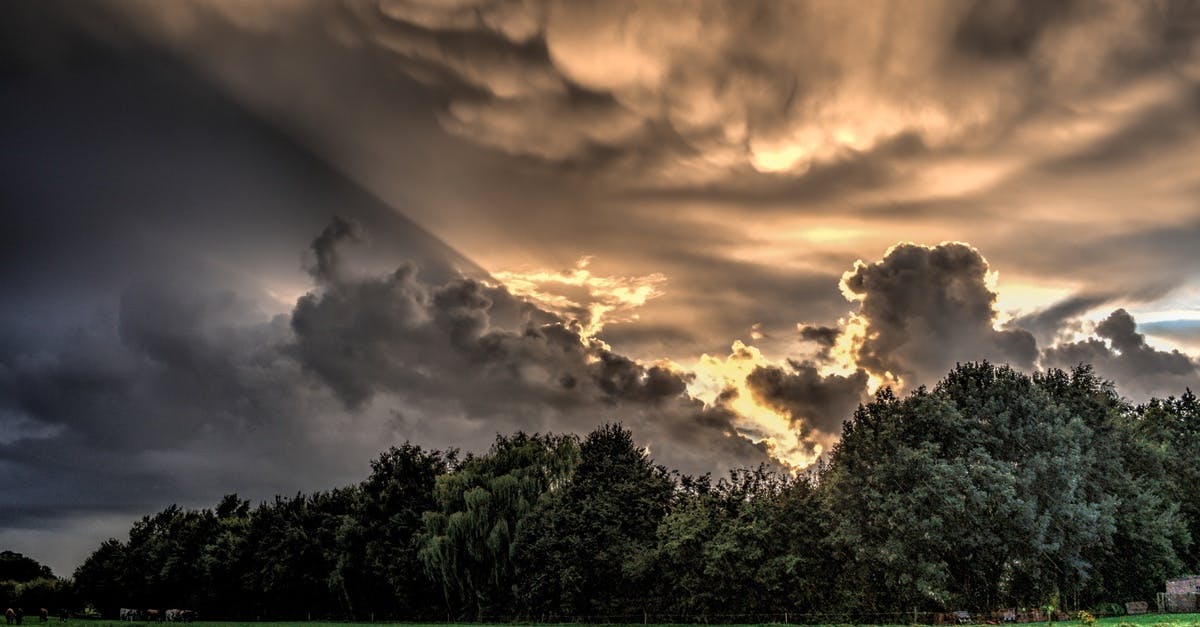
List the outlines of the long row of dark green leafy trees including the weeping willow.
<svg viewBox="0 0 1200 627">
<path fill-rule="evenodd" d="M 1087 366 L 965 364 L 880 390 L 798 476 L 680 474 L 612 424 L 406 443 L 358 485 L 144 516 L 71 586 L 208 619 L 1103 611 L 1200 571 L 1198 436 L 1190 392 L 1135 406 Z"/>
</svg>

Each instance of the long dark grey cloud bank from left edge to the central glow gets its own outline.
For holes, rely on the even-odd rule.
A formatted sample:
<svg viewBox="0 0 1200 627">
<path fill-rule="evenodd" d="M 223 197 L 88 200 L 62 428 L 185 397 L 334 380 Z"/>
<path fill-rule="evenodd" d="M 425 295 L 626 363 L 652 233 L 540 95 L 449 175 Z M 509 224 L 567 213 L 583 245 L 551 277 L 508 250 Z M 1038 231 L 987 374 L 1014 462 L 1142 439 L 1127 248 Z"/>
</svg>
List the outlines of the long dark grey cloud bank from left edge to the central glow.
<svg viewBox="0 0 1200 627">
<path fill-rule="evenodd" d="M 604 420 L 689 472 L 769 460 L 685 375 L 584 341 L 502 287 L 355 267 L 354 232 L 336 220 L 313 241 L 317 289 L 290 315 L 139 282 L 59 344 L 0 354 L 0 486 L 22 504 L 0 526 L 326 488 L 388 442 L 470 448 Z M 514 311 L 521 324 L 504 326 Z"/>
</svg>

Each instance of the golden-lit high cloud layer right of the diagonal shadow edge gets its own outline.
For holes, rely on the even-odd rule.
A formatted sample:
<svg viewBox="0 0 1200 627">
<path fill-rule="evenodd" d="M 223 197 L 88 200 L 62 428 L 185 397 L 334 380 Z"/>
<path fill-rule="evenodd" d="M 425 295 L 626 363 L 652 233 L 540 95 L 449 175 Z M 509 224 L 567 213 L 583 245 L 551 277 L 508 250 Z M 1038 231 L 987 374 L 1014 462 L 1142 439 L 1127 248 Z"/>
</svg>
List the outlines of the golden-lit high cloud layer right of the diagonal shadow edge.
<svg viewBox="0 0 1200 627">
<path fill-rule="evenodd" d="M 641 316 L 695 316 L 691 352 L 828 324 L 826 279 L 898 240 L 971 241 L 1010 286 L 1116 299 L 1195 274 L 1194 2 L 102 5 L 385 198 L 430 186 L 404 173 L 439 181 L 406 210 L 491 270 L 593 255 L 668 276 Z M 792 320 L 738 280 L 744 306 L 697 304 L 751 274 Z"/>
</svg>

